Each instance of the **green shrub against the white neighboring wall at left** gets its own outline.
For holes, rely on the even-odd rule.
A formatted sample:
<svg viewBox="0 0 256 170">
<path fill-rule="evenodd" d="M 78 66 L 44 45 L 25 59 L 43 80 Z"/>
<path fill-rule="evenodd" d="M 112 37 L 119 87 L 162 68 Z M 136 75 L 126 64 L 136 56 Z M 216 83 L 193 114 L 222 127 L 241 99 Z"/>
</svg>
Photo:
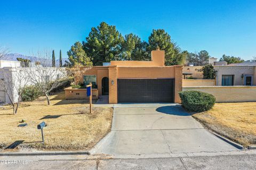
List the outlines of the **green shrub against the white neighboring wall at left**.
<svg viewBox="0 0 256 170">
<path fill-rule="evenodd" d="M 26 86 L 21 95 L 22 101 L 34 101 L 39 96 L 43 96 L 42 92 L 35 86 Z"/>
</svg>

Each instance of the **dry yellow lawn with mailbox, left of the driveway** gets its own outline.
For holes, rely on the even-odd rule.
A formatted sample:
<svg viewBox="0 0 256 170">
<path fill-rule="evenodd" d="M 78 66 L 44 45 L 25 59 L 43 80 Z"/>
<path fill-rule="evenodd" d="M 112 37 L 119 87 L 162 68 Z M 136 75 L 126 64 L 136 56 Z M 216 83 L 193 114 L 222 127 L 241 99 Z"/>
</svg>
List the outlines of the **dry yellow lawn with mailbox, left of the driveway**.
<svg viewBox="0 0 256 170">
<path fill-rule="evenodd" d="M 87 100 L 64 98 L 64 92 L 51 96 L 51 106 L 43 97 L 21 103 L 17 115 L 9 106 L 0 107 L 0 149 L 6 151 L 13 142 L 23 141 L 18 149 L 87 150 L 110 131 L 112 108 L 93 107 L 90 114 Z M 22 119 L 28 126 L 18 127 Z M 42 121 L 47 125 L 44 145 L 41 130 L 37 130 Z"/>
</svg>

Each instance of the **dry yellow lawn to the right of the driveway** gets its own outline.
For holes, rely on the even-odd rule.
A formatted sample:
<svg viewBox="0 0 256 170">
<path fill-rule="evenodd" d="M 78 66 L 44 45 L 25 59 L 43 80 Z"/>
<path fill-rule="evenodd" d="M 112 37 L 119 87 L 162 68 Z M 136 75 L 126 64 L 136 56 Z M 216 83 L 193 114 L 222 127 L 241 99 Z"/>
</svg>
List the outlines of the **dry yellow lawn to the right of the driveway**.
<svg viewBox="0 0 256 170">
<path fill-rule="evenodd" d="M 235 142 L 256 145 L 256 102 L 217 103 L 210 111 L 193 117 L 206 128 Z"/>
</svg>

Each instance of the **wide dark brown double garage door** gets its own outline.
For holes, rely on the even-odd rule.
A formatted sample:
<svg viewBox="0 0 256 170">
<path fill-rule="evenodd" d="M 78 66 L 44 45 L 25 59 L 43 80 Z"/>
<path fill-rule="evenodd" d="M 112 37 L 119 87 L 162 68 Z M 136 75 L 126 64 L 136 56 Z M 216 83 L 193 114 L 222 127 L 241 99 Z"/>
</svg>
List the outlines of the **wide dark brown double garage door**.
<svg viewBox="0 0 256 170">
<path fill-rule="evenodd" d="M 174 79 L 118 79 L 118 103 L 173 103 Z"/>
</svg>

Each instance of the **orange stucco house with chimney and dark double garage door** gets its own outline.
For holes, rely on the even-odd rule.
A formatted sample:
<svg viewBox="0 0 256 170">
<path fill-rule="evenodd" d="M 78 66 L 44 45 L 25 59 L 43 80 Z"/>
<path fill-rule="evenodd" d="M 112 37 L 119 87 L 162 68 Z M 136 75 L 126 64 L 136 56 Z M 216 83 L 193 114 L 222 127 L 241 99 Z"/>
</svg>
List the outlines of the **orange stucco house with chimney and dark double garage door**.
<svg viewBox="0 0 256 170">
<path fill-rule="evenodd" d="M 83 67 L 87 71 L 80 81 L 90 79 L 97 84 L 94 98 L 98 90 L 99 96 L 109 95 L 110 104 L 180 103 L 182 66 L 164 63 L 164 50 L 153 50 L 151 61 L 111 61 L 109 66 Z M 66 98 L 69 95 L 66 92 Z"/>
</svg>

